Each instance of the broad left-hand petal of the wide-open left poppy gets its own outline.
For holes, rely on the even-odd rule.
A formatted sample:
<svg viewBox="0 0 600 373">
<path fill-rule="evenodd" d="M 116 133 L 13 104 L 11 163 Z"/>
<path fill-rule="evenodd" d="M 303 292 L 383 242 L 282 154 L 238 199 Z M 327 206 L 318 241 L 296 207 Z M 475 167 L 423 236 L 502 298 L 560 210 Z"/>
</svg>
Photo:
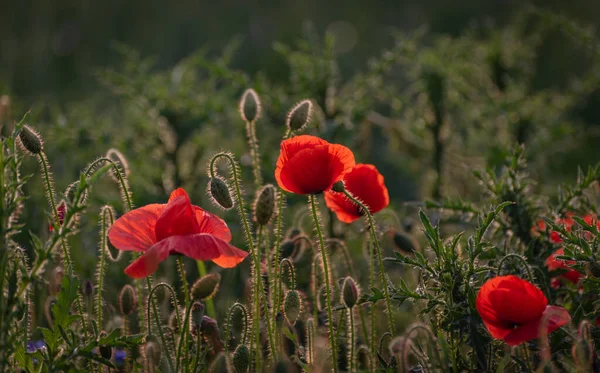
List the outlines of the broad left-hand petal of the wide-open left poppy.
<svg viewBox="0 0 600 373">
<path fill-rule="evenodd" d="M 154 203 L 124 214 L 108 231 L 110 243 L 119 250 L 146 251 L 157 242 L 156 221 L 166 206 Z"/>
</svg>

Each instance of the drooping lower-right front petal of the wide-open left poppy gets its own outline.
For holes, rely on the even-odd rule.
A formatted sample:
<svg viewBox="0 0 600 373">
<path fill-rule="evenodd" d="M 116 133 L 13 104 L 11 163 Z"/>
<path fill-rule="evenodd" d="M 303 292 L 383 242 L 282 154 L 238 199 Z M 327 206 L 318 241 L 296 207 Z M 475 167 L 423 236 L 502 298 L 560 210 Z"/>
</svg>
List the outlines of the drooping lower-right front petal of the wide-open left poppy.
<svg viewBox="0 0 600 373">
<path fill-rule="evenodd" d="M 241 263 L 248 252 L 240 250 L 227 242 L 205 233 L 188 236 L 172 236 L 164 240 L 172 252 L 178 252 L 195 260 L 213 260 L 225 268 Z"/>
</svg>

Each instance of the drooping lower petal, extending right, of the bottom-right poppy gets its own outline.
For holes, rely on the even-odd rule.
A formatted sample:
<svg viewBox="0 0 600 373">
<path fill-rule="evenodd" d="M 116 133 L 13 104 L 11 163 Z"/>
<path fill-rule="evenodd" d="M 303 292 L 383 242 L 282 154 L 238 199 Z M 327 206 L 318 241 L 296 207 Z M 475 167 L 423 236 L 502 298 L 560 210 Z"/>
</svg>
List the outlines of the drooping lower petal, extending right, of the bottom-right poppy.
<svg viewBox="0 0 600 373">
<path fill-rule="evenodd" d="M 561 326 L 567 324 L 571 316 L 566 309 L 556 306 L 547 306 L 543 316 L 525 325 L 513 329 L 505 338 L 504 342 L 509 346 L 516 346 L 526 341 L 539 338 L 540 328 L 544 327 L 542 322 L 546 321 L 546 332 L 552 333 Z"/>
</svg>

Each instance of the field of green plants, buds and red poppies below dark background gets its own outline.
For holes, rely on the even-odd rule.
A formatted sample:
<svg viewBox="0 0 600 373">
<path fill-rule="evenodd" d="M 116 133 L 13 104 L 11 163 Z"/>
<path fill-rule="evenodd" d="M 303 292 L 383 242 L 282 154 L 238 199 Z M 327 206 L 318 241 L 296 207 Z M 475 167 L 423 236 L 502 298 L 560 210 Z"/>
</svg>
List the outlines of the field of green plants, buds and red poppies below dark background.
<svg viewBox="0 0 600 373">
<path fill-rule="evenodd" d="M 0 372 L 600 372 L 598 33 L 392 35 L 0 95 Z"/>
</svg>

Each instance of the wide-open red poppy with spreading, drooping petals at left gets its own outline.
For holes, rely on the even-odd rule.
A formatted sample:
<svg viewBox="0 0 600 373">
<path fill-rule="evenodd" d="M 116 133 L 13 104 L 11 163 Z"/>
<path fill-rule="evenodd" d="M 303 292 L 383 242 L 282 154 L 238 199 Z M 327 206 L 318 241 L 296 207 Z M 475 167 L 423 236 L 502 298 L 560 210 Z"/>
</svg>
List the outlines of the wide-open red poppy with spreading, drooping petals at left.
<svg viewBox="0 0 600 373">
<path fill-rule="evenodd" d="M 125 269 L 133 278 L 151 275 L 170 254 L 212 260 L 223 268 L 235 267 L 248 255 L 229 244 L 227 224 L 192 205 L 181 188 L 171 193 L 167 204 L 154 203 L 121 216 L 108 238 L 119 250 L 144 253 Z"/>
</svg>

